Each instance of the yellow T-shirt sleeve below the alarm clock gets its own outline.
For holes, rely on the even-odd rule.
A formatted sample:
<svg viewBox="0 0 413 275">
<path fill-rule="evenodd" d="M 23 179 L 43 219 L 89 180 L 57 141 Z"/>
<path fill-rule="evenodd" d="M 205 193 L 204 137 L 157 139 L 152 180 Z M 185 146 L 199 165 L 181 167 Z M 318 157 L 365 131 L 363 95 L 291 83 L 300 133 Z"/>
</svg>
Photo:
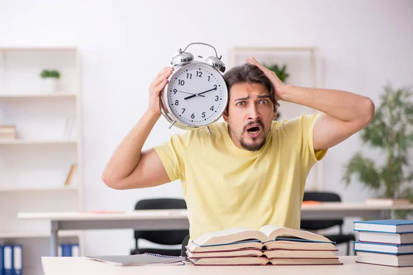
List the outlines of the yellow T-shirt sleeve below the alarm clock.
<svg viewBox="0 0 413 275">
<path fill-rule="evenodd" d="M 171 181 L 185 177 L 184 156 L 191 141 L 191 131 L 172 135 L 167 142 L 154 146 Z"/>
</svg>

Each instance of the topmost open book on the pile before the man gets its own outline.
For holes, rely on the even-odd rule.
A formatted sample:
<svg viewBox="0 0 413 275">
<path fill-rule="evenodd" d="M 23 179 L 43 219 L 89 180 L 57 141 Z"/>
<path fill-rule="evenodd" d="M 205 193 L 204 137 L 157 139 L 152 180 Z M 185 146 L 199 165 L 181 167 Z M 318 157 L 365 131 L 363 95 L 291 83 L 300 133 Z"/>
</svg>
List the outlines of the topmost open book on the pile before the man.
<svg viewBox="0 0 413 275">
<path fill-rule="evenodd" d="M 276 225 L 264 225 L 259 230 L 252 230 L 251 228 L 229 228 L 227 230 L 209 232 L 194 239 L 193 243 L 202 247 L 207 245 L 225 245 L 240 241 L 267 243 L 269 241 L 275 241 L 276 239 L 284 241 L 333 243 L 330 239 L 320 234 Z"/>
</svg>

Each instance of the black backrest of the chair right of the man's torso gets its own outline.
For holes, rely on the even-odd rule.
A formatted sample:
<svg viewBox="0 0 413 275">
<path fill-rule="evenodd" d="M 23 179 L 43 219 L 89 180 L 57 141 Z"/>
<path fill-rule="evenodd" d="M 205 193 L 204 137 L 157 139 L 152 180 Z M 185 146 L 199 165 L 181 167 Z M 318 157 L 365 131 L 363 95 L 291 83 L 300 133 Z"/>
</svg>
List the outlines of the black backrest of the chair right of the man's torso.
<svg viewBox="0 0 413 275">
<path fill-rule="evenodd" d="M 304 192 L 303 201 L 341 201 L 338 194 L 333 192 Z M 321 230 L 335 225 L 343 225 L 343 219 L 301 220 L 300 228 L 305 230 Z"/>
</svg>

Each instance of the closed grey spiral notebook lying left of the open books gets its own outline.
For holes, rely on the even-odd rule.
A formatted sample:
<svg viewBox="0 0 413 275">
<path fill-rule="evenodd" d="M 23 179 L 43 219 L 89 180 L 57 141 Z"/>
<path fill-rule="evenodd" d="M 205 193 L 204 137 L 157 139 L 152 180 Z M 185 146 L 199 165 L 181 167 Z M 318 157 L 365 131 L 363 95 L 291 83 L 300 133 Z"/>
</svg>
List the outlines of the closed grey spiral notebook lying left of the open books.
<svg viewBox="0 0 413 275">
<path fill-rule="evenodd" d="M 187 257 L 165 256 L 160 254 L 136 254 L 136 255 L 104 255 L 86 256 L 87 259 L 108 263 L 114 266 L 125 265 L 184 265 Z"/>
</svg>

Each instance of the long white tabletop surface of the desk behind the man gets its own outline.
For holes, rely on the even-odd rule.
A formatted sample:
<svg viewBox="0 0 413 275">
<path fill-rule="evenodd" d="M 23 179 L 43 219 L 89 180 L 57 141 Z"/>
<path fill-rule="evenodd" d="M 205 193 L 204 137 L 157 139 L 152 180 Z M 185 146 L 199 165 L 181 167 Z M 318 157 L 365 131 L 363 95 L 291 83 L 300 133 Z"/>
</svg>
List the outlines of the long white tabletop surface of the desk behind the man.
<svg viewBox="0 0 413 275">
<path fill-rule="evenodd" d="M 303 205 L 301 212 L 374 211 L 413 209 L 413 203 L 399 206 L 368 206 L 366 203 L 320 203 Z M 188 217 L 187 210 L 137 210 L 125 212 L 20 212 L 20 219 L 50 219 L 59 221 L 81 220 L 135 220 L 135 219 L 182 219 Z"/>
</svg>

